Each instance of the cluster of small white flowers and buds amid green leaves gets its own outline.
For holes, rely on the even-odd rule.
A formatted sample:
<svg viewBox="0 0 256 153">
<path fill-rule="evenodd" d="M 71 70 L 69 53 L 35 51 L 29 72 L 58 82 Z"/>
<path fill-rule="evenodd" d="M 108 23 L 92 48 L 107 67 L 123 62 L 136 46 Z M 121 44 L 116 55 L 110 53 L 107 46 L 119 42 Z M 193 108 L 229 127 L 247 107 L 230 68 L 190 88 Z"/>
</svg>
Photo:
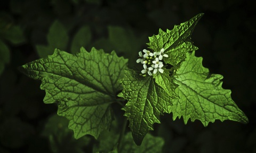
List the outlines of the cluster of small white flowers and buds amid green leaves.
<svg viewBox="0 0 256 153">
<path fill-rule="evenodd" d="M 143 50 L 145 54 L 142 55 L 142 52 L 139 52 L 139 59 L 137 60 L 137 63 L 142 63 L 143 64 L 143 70 L 141 71 L 141 75 L 146 76 L 146 73 L 148 75 L 152 75 L 151 70 L 154 69 L 153 74 L 156 74 L 157 71 L 160 73 L 163 73 L 164 70 L 162 69 L 163 62 L 161 61 L 163 57 L 168 57 L 167 54 L 164 54 L 164 49 L 161 49 L 160 52 L 154 52 L 151 53 L 148 50 Z"/>
</svg>

